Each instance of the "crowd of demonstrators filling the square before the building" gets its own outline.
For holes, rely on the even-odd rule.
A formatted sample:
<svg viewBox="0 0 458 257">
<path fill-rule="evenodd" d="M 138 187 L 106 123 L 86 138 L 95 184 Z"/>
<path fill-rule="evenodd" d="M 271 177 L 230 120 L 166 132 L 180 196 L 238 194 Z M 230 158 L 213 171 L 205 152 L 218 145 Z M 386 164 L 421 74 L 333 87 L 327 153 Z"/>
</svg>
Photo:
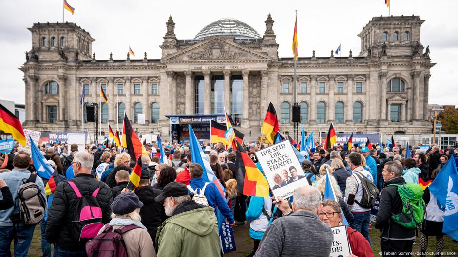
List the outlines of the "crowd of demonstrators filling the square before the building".
<svg viewBox="0 0 458 257">
<path fill-rule="evenodd" d="M 243 145 L 255 163 L 254 152 L 266 146 L 257 142 Z M 313 153 L 303 153 L 310 156 L 302 162 L 310 185 L 296 188 L 290 199 L 275 200 L 248 197 L 235 189 L 237 180 L 243 178 L 237 178 L 236 154 L 222 143 L 204 145 L 202 149 L 226 195 L 202 178 L 205 168 L 192 162 L 189 146 L 166 143 L 162 147 L 167 155 L 165 163 L 160 163 L 157 143 L 145 145 L 149 156 L 141 157 L 141 176 L 133 191 L 127 188 L 136 161 L 122 147 L 91 143 L 80 151 L 76 144 L 39 146 L 57 171 L 51 195 L 45 193 L 48 181 L 33 176 L 35 167 L 28 153 L 13 150 L 0 155 L 0 256 L 11 256 L 13 241 L 15 257 L 28 254 L 38 223 L 14 218 L 24 213 L 18 198 L 26 181 L 39 188 L 39 199 L 50 202 L 39 222 L 43 257 L 51 256 L 51 245 L 54 257 L 101 256 L 107 248 L 104 239 L 116 235 L 122 244 L 115 249 L 125 250 L 129 257 L 222 256 L 216 212 L 232 227 L 249 222 L 253 250 L 248 257 L 329 257 L 331 227 L 344 223 L 349 224 L 350 257 L 374 256 L 369 237 L 372 226 L 380 229 L 382 256 L 402 256 L 399 253 L 412 252 L 418 231 L 392 221 L 402 209 L 394 185 L 434 180 L 450 158 L 458 162 L 455 149 L 442 151 L 438 145 L 426 153 L 419 146 L 402 149 L 373 145 L 371 150 L 366 146 L 317 147 Z M 405 157 L 406 151 L 411 151 L 411 158 Z M 257 167 L 262 171 L 260 165 Z M 276 186 L 299 179 L 293 168 L 276 174 Z M 324 200 L 326 174 L 331 175 L 334 200 Z M 372 199 L 367 199 L 367 190 L 375 195 L 380 192 L 375 224 L 371 222 Z M 440 256 L 444 246 L 443 209 L 427 188 L 422 197 L 427 211 L 419 226 L 420 246 L 425 252 L 428 237 L 435 236 L 436 256 Z"/>
</svg>

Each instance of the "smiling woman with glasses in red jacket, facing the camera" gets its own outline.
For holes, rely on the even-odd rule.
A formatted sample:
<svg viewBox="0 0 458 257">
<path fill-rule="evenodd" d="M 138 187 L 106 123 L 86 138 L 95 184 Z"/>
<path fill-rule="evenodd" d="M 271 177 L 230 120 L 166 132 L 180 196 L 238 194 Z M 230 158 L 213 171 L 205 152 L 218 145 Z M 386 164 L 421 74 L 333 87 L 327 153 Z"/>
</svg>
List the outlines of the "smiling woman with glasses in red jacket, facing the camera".
<svg viewBox="0 0 458 257">
<path fill-rule="evenodd" d="M 322 206 L 318 207 L 317 214 L 320 221 L 326 223 L 330 227 L 342 225 L 342 211 L 339 203 L 334 200 L 324 200 Z M 363 235 L 351 227 L 346 228 L 351 252 L 353 253 L 348 257 L 373 257 L 372 248 Z"/>
</svg>

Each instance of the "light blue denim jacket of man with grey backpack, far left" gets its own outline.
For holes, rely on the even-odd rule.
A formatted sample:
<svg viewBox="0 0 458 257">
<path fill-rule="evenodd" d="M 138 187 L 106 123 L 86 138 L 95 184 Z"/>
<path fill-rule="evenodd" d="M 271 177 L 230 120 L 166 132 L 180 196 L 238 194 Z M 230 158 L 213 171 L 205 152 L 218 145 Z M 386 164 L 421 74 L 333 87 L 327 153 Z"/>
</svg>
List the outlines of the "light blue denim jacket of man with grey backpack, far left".
<svg viewBox="0 0 458 257">
<path fill-rule="evenodd" d="M 13 169 L 11 171 L 0 174 L 0 178 L 2 178 L 5 181 L 6 185 L 8 185 L 8 187 L 10 188 L 10 192 L 14 199 L 13 207 L 0 211 L 0 226 L 5 226 L 5 227 L 13 226 L 13 222 L 11 222 L 10 216 L 13 213 L 19 213 L 18 188 L 20 185 L 24 183 L 22 180 L 23 179 L 27 180 L 29 177 L 30 177 L 30 171 L 26 169 Z M 46 199 L 46 193 L 44 189 L 43 180 L 41 180 L 41 178 L 37 176 L 35 183 L 37 184 L 38 188 L 41 189 L 41 194 Z M 24 224 L 19 223 L 19 225 L 24 225 Z"/>
</svg>

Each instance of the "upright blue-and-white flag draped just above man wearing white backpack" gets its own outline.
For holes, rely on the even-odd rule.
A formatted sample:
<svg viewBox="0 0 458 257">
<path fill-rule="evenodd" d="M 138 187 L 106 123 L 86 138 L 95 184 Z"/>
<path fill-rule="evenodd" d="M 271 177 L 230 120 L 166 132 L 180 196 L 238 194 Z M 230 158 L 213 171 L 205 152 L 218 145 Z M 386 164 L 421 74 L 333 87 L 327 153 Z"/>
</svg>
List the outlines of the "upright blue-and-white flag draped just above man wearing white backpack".
<svg viewBox="0 0 458 257">
<path fill-rule="evenodd" d="M 191 125 L 189 125 L 189 145 L 192 162 L 202 166 L 204 171 L 202 173 L 202 179 L 207 182 L 213 182 L 221 195 L 223 195 L 223 198 L 225 198 L 224 193 L 226 190 L 224 189 L 223 185 L 221 185 L 221 182 L 211 169 L 209 159 L 207 158 L 207 155 L 204 154 L 204 151 L 202 151 L 202 147 L 200 147 L 199 141 L 197 140 Z"/>
</svg>

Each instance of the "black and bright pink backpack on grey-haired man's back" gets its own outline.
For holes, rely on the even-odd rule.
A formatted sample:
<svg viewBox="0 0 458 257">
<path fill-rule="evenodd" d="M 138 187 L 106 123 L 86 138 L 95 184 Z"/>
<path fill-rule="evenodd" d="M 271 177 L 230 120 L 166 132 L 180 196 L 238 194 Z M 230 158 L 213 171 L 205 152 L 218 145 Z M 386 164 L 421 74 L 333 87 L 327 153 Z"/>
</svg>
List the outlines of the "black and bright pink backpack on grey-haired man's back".
<svg viewBox="0 0 458 257">
<path fill-rule="evenodd" d="M 92 194 L 87 192 L 81 195 L 74 182 L 67 181 L 67 183 L 70 184 L 78 197 L 71 223 L 72 239 L 76 242 L 87 242 L 97 236 L 98 231 L 103 227 L 102 209 L 97 201 L 101 184 Z"/>
</svg>

